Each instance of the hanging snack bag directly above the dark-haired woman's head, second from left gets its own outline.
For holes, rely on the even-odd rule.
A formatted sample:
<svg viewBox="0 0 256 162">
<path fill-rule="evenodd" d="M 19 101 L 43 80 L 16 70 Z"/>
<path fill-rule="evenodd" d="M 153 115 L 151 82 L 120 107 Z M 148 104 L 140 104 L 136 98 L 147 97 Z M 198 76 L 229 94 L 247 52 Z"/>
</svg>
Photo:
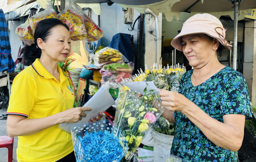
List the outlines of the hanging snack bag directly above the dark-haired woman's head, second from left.
<svg viewBox="0 0 256 162">
<path fill-rule="evenodd" d="M 54 11 L 52 7 L 52 3 L 49 1 L 46 9 L 38 14 L 35 14 L 31 18 L 29 18 L 29 24 L 31 25 L 32 34 L 35 33 L 35 27 L 39 21 L 44 20 L 46 18 L 58 18 L 58 15 Z"/>
</svg>

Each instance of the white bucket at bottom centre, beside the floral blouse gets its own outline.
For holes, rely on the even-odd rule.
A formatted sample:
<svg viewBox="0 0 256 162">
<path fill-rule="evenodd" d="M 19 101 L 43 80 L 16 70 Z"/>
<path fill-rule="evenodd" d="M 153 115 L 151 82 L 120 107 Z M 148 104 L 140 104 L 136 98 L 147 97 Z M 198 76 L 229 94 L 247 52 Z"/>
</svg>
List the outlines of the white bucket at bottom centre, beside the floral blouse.
<svg viewBox="0 0 256 162">
<path fill-rule="evenodd" d="M 166 135 L 152 130 L 152 137 L 154 138 L 154 161 L 166 161 L 170 155 L 170 149 L 173 144 L 173 135 Z"/>
</svg>

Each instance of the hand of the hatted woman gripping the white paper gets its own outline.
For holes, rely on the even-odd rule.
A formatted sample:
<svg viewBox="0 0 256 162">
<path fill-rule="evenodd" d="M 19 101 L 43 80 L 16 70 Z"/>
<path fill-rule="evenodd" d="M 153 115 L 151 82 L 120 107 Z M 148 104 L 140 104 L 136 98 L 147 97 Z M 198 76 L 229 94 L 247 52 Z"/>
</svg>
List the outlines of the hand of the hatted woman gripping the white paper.
<svg viewBox="0 0 256 162">
<path fill-rule="evenodd" d="M 159 96 L 162 100 L 162 105 L 169 111 L 184 112 L 190 106 L 191 101 L 188 100 L 184 95 L 160 89 Z"/>
</svg>

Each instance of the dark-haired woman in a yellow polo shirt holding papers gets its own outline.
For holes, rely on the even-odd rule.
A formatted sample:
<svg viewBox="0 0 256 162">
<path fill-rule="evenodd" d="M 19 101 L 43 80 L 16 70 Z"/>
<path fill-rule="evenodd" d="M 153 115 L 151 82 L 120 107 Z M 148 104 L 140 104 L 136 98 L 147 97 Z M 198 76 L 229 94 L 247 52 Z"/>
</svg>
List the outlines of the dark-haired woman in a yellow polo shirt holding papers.
<svg viewBox="0 0 256 162">
<path fill-rule="evenodd" d="M 74 92 L 58 66 L 71 52 L 69 27 L 56 18 L 42 20 L 34 40 L 25 49 L 33 64 L 15 77 L 7 111 L 8 135 L 19 137 L 17 161 L 76 161 L 71 135 L 58 126 L 81 120 L 92 108 L 72 108 Z"/>
</svg>

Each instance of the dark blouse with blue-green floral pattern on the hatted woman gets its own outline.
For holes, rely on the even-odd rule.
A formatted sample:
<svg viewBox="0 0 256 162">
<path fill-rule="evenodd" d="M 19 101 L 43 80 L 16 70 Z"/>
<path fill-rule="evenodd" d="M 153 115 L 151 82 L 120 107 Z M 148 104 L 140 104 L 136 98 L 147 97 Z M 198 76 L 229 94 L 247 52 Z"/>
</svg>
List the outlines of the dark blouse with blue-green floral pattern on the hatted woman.
<svg viewBox="0 0 256 162">
<path fill-rule="evenodd" d="M 248 88 L 243 75 L 225 67 L 210 79 L 194 87 L 193 70 L 182 76 L 179 93 L 212 118 L 223 122 L 223 115 L 243 114 L 251 118 Z M 181 112 L 174 113 L 176 130 L 171 154 L 190 161 L 237 161 L 237 152 L 216 146 Z"/>
</svg>

